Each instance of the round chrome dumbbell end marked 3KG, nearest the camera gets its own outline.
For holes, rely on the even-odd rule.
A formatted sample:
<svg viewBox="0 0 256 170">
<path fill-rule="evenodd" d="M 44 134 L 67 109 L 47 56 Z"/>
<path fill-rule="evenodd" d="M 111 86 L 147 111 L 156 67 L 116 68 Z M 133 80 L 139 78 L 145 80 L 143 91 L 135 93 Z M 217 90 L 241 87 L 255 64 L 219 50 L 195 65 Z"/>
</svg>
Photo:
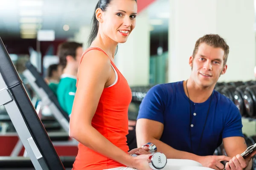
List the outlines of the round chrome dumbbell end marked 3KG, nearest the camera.
<svg viewBox="0 0 256 170">
<path fill-rule="evenodd" d="M 136 157 L 138 155 L 131 154 L 131 156 Z M 167 158 L 163 153 L 157 152 L 149 156 L 148 163 L 153 170 L 160 170 L 166 166 Z"/>
</svg>

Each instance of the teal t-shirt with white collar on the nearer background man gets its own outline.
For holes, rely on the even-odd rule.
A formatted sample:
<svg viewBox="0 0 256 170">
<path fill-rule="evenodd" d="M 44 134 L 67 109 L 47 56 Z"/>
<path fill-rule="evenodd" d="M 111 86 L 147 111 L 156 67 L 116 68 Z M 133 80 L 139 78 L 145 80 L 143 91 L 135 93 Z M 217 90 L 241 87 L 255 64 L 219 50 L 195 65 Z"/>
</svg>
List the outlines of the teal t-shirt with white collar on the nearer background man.
<svg viewBox="0 0 256 170">
<path fill-rule="evenodd" d="M 63 74 L 57 88 L 61 108 L 70 116 L 76 94 L 76 77 Z"/>
</svg>

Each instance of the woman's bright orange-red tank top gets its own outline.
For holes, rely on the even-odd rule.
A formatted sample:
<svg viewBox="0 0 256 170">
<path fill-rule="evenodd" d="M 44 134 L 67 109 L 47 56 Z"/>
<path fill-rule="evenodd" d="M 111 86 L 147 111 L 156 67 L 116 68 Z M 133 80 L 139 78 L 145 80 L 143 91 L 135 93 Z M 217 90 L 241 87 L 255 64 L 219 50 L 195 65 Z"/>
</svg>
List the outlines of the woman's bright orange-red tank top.
<svg viewBox="0 0 256 170">
<path fill-rule="evenodd" d="M 98 47 L 87 48 L 81 57 L 80 63 L 84 55 L 91 50 L 102 51 L 106 54 Z M 126 143 L 126 135 L 128 134 L 128 107 L 132 97 L 131 88 L 112 61 L 111 64 L 117 72 L 118 80 L 113 86 L 104 88 L 92 119 L 92 126 L 110 142 L 128 153 L 129 148 Z M 77 83 L 79 83 L 79 79 L 77 79 Z M 78 144 L 78 148 L 73 170 L 103 170 L 125 166 L 102 156 L 81 143 Z"/>
</svg>

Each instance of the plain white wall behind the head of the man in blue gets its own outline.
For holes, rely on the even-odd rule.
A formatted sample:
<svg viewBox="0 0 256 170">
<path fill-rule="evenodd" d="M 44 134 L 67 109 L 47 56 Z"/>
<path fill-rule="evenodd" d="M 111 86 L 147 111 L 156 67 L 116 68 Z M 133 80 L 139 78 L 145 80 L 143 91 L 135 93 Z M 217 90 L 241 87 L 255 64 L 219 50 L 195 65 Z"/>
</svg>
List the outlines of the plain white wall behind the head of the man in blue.
<svg viewBox="0 0 256 170">
<path fill-rule="evenodd" d="M 170 0 L 169 82 L 187 79 L 189 57 L 204 34 L 219 34 L 230 47 L 227 72 L 219 81 L 254 79 L 253 0 Z"/>
</svg>

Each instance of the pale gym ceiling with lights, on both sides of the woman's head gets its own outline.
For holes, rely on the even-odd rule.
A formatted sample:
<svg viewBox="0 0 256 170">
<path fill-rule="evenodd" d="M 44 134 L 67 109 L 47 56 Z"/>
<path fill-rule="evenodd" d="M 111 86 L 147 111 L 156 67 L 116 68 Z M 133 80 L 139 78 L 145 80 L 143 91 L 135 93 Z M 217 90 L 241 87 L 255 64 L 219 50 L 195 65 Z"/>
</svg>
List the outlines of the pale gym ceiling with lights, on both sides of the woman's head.
<svg viewBox="0 0 256 170">
<path fill-rule="evenodd" d="M 81 26 L 89 26 L 94 12 L 94 8 L 98 0 L 32 0 L 38 1 L 38 6 L 31 6 L 31 0 L 28 6 L 27 0 L 0 0 L 0 37 L 2 39 L 18 39 L 20 35 L 20 13 L 26 13 L 31 10 L 41 12 L 36 17 L 37 25 L 30 24 L 30 29 L 54 30 L 55 39 L 67 39 L 73 37 L 79 31 Z M 23 2 L 23 3 L 22 3 Z M 35 4 L 36 5 L 36 4 Z M 150 21 L 161 19 L 161 25 L 152 26 L 151 34 L 168 31 L 169 23 L 169 0 L 156 0 L 148 8 L 148 16 Z M 157 16 L 162 14 L 165 16 Z M 166 17 L 167 15 L 167 17 Z M 26 21 L 27 22 L 27 21 Z M 159 22 L 159 21 L 158 21 Z M 34 26 L 33 26 L 34 25 Z M 64 31 L 63 26 L 68 25 L 68 31 Z M 28 26 L 28 25 L 26 25 Z M 31 34 L 30 34 L 31 35 Z"/>
</svg>

